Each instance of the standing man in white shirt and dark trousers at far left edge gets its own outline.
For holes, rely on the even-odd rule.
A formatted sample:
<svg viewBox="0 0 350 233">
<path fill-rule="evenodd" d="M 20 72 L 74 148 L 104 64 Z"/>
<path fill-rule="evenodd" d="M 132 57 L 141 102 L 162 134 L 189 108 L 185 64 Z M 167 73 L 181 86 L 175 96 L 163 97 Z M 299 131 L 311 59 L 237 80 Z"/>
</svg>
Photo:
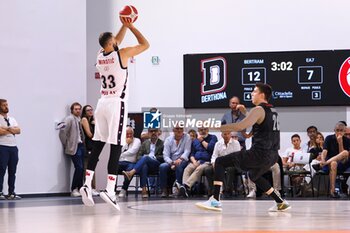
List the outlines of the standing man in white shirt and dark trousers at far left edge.
<svg viewBox="0 0 350 233">
<path fill-rule="evenodd" d="M 21 133 L 15 118 L 8 116 L 7 100 L 0 99 L 0 200 L 18 200 L 20 196 L 15 193 L 16 170 L 18 164 L 18 148 L 16 134 Z M 2 188 L 4 176 L 8 172 L 8 195 L 5 197 Z"/>
</svg>

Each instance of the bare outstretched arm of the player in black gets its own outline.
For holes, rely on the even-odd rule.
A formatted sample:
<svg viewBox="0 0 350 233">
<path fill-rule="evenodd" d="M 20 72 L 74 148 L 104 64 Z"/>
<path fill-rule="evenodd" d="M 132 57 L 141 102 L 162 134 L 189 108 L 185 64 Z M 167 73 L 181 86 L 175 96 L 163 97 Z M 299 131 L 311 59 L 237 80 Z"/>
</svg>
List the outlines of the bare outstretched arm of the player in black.
<svg viewBox="0 0 350 233">
<path fill-rule="evenodd" d="M 231 123 L 222 125 L 221 131 L 242 131 L 248 127 L 251 127 L 255 123 L 261 123 L 265 118 L 265 111 L 262 107 L 257 106 L 250 110 L 248 115 L 238 123 Z"/>
</svg>

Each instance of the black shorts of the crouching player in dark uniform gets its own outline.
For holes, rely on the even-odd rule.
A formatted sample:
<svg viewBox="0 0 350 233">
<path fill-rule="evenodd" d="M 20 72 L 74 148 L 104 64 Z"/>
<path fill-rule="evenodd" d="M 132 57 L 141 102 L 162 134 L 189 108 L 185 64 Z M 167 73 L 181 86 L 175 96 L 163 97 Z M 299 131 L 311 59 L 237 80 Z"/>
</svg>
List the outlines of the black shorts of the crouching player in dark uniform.
<svg viewBox="0 0 350 233">
<path fill-rule="evenodd" d="M 242 150 L 217 158 L 224 167 L 247 171 L 252 181 L 261 177 L 278 160 L 278 151 Z M 219 159 L 219 161 L 218 161 Z"/>
</svg>

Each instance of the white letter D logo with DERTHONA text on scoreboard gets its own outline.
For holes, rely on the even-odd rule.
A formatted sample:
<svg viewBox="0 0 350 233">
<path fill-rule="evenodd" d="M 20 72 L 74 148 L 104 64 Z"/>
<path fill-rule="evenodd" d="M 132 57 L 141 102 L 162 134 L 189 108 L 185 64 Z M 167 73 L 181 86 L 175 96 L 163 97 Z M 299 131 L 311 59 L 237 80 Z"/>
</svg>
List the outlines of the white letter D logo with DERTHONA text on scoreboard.
<svg viewBox="0 0 350 233">
<path fill-rule="evenodd" d="M 226 92 L 224 91 L 227 83 L 226 67 L 226 60 L 223 57 L 201 60 L 202 103 L 227 99 Z"/>
</svg>

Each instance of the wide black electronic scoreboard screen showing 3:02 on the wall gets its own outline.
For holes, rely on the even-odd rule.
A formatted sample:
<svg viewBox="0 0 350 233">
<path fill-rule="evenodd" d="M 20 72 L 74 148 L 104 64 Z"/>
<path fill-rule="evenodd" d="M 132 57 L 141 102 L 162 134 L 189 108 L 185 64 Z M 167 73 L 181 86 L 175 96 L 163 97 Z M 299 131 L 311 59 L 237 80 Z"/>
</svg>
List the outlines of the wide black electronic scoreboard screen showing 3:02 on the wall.
<svg viewBox="0 0 350 233">
<path fill-rule="evenodd" d="M 184 55 L 184 107 L 252 106 L 256 83 L 274 106 L 350 105 L 350 50 Z"/>
</svg>

